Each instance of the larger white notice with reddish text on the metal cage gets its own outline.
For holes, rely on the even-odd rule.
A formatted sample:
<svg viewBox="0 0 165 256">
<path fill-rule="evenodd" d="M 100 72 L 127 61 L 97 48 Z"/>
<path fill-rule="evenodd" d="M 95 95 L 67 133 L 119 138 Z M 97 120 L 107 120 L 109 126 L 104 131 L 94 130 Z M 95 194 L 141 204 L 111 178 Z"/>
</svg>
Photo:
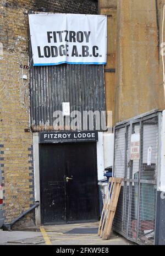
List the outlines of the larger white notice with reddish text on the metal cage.
<svg viewBox="0 0 165 256">
<path fill-rule="evenodd" d="M 134 133 L 131 135 L 130 160 L 138 159 L 140 159 L 140 134 Z"/>
</svg>

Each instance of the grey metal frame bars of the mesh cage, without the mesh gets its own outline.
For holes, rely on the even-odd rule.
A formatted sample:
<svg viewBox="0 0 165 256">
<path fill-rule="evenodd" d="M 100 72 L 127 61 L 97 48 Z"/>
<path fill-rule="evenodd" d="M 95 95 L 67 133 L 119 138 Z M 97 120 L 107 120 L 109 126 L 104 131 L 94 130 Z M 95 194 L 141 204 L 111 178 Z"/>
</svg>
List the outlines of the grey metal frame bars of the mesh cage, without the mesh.
<svg viewBox="0 0 165 256">
<path fill-rule="evenodd" d="M 141 181 L 141 177 L 140 177 L 140 173 L 141 173 L 141 149 L 142 149 L 142 136 L 141 136 L 141 130 L 142 130 L 142 122 L 146 121 L 147 119 L 151 119 L 153 117 L 158 117 L 158 157 L 157 157 L 157 176 L 156 176 L 156 180 L 155 182 L 153 181 Z M 136 238 L 131 238 L 129 237 L 129 221 L 130 221 L 130 209 L 131 209 L 131 186 L 130 184 L 132 182 L 137 182 L 137 180 L 135 179 L 130 179 L 127 177 L 127 129 L 128 127 L 130 127 L 130 134 L 132 134 L 132 128 L 133 125 L 139 123 L 140 124 L 140 159 L 139 159 L 139 189 L 138 189 L 138 219 L 137 219 L 137 235 Z M 120 122 L 117 123 L 116 126 L 114 127 L 114 165 L 113 165 L 113 175 L 114 177 L 116 176 L 115 173 L 115 160 L 116 160 L 116 154 L 115 154 L 115 150 L 116 150 L 116 130 L 124 128 L 125 129 L 125 141 L 124 141 L 124 145 L 125 145 L 125 149 L 124 149 L 124 184 L 123 184 L 123 193 L 121 194 L 121 196 L 123 197 L 123 201 L 122 201 L 122 221 L 123 221 L 123 225 L 122 225 L 122 230 L 119 231 L 116 227 L 113 226 L 113 230 L 117 231 L 118 233 L 120 233 L 120 235 L 124 236 L 125 238 L 129 239 L 132 242 L 138 243 L 138 244 L 144 244 L 141 241 L 138 240 L 139 237 L 139 221 L 140 221 L 140 188 L 141 188 L 141 183 L 147 183 L 147 184 L 155 184 L 156 186 L 156 205 L 155 205 L 155 230 L 156 230 L 156 208 L 157 208 L 157 190 L 158 190 L 158 186 L 160 184 L 160 162 L 161 162 L 161 129 L 162 129 L 162 112 L 159 112 L 158 110 L 152 110 L 150 112 L 144 113 L 140 116 L 136 116 L 134 118 L 128 119 L 124 122 Z M 131 166 L 130 166 L 131 167 Z M 129 174 L 130 175 L 130 174 Z M 125 189 L 127 189 L 127 187 L 125 186 L 125 182 L 129 182 L 129 203 L 128 203 L 128 215 L 127 215 L 127 232 L 124 233 L 123 229 L 124 229 L 124 208 L 125 208 L 125 201 L 124 201 L 124 197 L 125 197 Z M 127 202 L 126 202 L 127 203 Z M 154 236 L 154 241 L 153 244 L 155 244 L 155 236 Z"/>
</svg>

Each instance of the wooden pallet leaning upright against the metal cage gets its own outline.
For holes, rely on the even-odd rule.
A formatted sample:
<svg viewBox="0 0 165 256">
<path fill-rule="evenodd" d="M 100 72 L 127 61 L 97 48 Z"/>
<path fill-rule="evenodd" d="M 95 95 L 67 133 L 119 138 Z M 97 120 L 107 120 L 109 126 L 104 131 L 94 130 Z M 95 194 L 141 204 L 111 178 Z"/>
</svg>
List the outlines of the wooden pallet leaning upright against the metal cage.
<svg viewBox="0 0 165 256">
<path fill-rule="evenodd" d="M 105 203 L 101 214 L 100 225 L 98 227 L 98 236 L 103 239 L 109 239 L 116 213 L 122 178 L 109 178 Z"/>
</svg>

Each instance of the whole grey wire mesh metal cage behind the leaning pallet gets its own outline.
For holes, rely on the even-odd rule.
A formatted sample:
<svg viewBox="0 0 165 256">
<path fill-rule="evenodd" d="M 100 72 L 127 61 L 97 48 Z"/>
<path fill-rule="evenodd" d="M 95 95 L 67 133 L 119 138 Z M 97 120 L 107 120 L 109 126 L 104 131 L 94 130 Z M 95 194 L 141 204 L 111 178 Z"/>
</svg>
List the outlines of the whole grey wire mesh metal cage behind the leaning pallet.
<svg viewBox="0 0 165 256">
<path fill-rule="evenodd" d="M 114 129 L 114 177 L 122 177 L 113 230 L 138 244 L 155 244 L 161 113 L 130 119 Z M 140 135 L 139 159 L 131 160 L 131 135 Z"/>
</svg>

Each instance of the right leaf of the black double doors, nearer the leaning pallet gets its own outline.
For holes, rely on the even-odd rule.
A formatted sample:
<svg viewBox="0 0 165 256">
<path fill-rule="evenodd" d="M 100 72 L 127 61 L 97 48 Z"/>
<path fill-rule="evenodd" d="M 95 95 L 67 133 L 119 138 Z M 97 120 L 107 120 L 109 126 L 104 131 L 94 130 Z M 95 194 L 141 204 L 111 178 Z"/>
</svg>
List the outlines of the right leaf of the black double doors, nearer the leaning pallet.
<svg viewBox="0 0 165 256">
<path fill-rule="evenodd" d="M 95 143 L 67 145 L 67 221 L 98 219 Z"/>
</svg>

